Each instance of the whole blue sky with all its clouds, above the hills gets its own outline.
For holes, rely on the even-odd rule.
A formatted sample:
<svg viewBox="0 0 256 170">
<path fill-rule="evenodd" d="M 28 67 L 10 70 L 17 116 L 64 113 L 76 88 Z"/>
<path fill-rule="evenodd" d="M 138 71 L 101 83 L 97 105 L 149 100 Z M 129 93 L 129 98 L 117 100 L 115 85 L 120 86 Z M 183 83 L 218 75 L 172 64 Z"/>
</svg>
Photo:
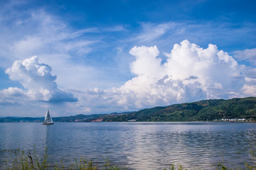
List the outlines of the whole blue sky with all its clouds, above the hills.
<svg viewBox="0 0 256 170">
<path fill-rule="evenodd" d="M 255 1 L 1 1 L 0 116 L 256 95 Z"/>
</svg>

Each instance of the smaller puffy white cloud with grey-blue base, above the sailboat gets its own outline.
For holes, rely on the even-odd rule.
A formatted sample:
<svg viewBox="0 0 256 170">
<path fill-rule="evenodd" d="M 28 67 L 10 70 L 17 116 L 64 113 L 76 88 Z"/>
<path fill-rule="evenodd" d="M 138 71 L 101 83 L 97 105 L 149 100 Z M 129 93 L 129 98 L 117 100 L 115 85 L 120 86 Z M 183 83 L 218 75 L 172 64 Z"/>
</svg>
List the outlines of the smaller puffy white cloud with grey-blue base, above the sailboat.
<svg viewBox="0 0 256 170">
<path fill-rule="evenodd" d="M 6 74 L 14 81 L 19 81 L 23 89 L 9 88 L 0 91 L 4 96 L 26 96 L 32 101 L 50 103 L 74 102 L 77 98 L 67 91 L 58 89 L 55 82 L 56 76 L 51 74 L 51 67 L 38 63 L 38 57 L 26 60 L 17 60 L 11 68 L 6 69 Z"/>
</svg>

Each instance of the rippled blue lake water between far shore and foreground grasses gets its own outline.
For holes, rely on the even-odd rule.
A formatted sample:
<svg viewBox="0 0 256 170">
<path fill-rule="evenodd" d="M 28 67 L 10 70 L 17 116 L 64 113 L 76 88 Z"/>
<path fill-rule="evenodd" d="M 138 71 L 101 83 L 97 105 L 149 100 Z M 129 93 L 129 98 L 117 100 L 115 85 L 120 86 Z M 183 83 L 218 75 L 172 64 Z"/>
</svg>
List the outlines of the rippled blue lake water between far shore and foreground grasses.
<svg viewBox="0 0 256 170">
<path fill-rule="evenodd" d="M 47 147 L 52 164 L 82 156 L 129 169 L 215 169 L 219 162 L 244 168 L 256 149 L 256 123 L 0 123 L 0 134 L 0 149 L 36 145 L 43 154 Z M 4 159 L 2 154 L 1 167 Z"/>
</svg>

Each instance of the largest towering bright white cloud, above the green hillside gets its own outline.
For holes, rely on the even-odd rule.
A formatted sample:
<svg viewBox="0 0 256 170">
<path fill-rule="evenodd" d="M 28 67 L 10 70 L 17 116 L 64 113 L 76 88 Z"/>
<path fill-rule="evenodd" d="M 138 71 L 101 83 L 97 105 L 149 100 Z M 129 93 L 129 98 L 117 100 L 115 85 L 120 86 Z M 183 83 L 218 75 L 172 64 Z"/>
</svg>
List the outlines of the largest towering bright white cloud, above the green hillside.
<svg viewBox="0 0 256 170">
<path fill-rule="evenodd" d="M 183 40 L 165 54 L 164 63 L 156 46 L 133 47 L 130 54 L 136 57 L 131 64 L 136 77 L 114 89 L 122 96 L 118 103 L 128 108 L 230 98 L 245 89 L 242 67 L 216 45 L 203 49 Z"/>
</svg>

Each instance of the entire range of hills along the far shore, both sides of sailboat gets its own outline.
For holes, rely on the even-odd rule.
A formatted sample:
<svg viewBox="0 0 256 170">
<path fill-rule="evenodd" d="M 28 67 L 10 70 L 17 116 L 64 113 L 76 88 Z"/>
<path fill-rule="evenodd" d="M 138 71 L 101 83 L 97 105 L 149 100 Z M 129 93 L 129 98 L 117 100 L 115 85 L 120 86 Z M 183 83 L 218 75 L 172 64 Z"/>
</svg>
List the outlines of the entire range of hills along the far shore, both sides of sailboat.
<svg viewBox="0 0 256 170">
<path fill-rule="evenodd" d="M 122 121 L 206 121 L 222 119 L 256 120 L 256 97 L 208 99 L 170 106 L 144 108 L 134 112 L 71 115 L 53 118 L 54 122 L 122 122 Z M 4 122 L 43 122 L 41 118 L 0 118 Z"/>
</svg>

